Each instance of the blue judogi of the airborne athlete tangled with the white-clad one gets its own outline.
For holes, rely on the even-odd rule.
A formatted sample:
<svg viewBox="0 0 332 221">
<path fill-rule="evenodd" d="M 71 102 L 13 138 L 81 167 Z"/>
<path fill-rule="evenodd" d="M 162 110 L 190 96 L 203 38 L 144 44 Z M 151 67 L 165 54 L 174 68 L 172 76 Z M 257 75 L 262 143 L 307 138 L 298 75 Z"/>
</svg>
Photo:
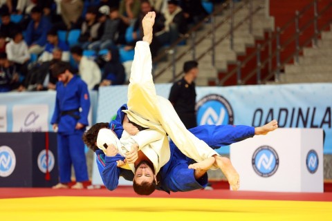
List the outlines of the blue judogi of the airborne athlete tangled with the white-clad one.
<svg viewBox="0 0 332 221">
<path fill-rule="evenodd" d="M 123 131 L 121 123 L 124 113 L 122 110 L 125 109 L 127 109 L 127 105 L 124 104 L 118 110 L 116 119 L 110 122 L 111 129 L 116 132 L 119 138 Z M 254 127 L 241 125 L 202 125 L 191 128 L 189 131 L 200 140 L 206 142 L 209 146 L 212 146 L 212 148 L 219 148 L 220 146 L 239 142 L 255 135 Z M 160 180 L 156 189 L 170 193 L 171 191 L 193 191 L 205 187 L 208 184 L 208 175 L 205 173 L 203 177 L 196 180 L 194 177 L 194 170 L 188 169 L 188 165 L 194 163 L 193 160 L 181 153 L 172 141 L 169 143 L 169 147 L 171 157 L 169 162 L 167 162 L 167 164 L 165 164 L 159 171 L 157 177 L 160 177 Z M 96 160 L 98 170 L 107 189 L 111 191 L 116 189 L 119 177 L 123 176 L 127 180 L 126 177 L 128 177 L 128 172 L 132 175 L 128 177 L 128 180 L 133 180 L 132 171 L 116 166 L 116 161 L 124 160 L 124 157 L 120 155 L 107 157 L 101 150 L 96 151 L 95 154 L 97 155 Z"/>
</svg>

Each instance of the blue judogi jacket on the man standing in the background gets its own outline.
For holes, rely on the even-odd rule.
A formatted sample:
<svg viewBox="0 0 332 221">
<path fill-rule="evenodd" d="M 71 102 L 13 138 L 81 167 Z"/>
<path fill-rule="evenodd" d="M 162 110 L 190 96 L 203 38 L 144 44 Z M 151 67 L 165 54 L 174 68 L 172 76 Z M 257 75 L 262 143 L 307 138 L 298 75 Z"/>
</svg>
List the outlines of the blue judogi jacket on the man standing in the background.
<svg viewBox="0 0 332 221">
<path fill-rule="evenodd" d="M 82 108 L 82 111 L 79 109 Z M 58 124 L 58 132 L 63 134 L 75 133 L 75 125 L 80 122 L 89 125 L 88 114 L 90 98 L 88 86 L 80 77 L 74 75 L 66 86 L 57 82 L 57 96 L 51 124 Z M 66 114 L 71 111 L 71 114 Z M 82 128 L 84 131 L 85 128 Z"/>
</svg>

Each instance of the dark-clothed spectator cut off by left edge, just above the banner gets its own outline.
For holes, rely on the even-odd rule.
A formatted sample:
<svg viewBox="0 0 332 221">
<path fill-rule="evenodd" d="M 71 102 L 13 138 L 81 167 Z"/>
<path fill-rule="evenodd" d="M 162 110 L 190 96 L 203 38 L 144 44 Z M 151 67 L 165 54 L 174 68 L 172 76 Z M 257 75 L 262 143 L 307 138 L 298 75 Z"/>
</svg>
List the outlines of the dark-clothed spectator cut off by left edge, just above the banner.
<svg viewBox="0 0 332 221">
<path fill-rule="evenodd" d="M 18 82 L 19 75 L 15 66 L 10 64 L 5 52 L 0 52 L 0 93 L 15 89 Z"/>
</svg>

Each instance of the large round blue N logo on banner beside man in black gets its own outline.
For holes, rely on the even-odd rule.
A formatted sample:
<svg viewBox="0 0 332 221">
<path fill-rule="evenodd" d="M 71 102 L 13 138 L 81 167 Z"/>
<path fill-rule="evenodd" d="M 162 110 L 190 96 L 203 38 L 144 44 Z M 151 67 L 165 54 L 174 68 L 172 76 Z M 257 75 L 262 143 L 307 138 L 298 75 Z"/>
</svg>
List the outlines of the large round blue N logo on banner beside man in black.
<svg viewBox="0 0 332 221">
<path fill-rule="evenodd" d="M 233 110 L 221 95 L 207 95 L 196 104 L 197 123 L 225 125 L 233 124 Z"/>
</svg>

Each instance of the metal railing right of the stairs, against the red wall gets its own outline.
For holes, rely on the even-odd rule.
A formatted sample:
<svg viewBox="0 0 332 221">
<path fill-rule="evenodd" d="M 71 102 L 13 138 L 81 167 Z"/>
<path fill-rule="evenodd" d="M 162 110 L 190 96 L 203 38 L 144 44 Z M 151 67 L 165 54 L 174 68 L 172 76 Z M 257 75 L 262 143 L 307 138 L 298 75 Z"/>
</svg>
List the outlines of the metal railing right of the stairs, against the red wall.
<svg viewBox="0 0 332 221">
<path fill-rule="evenodd" d="M 327 21 L 326 23 L 322 24 L 321 27 L 318 27 L 318 19 L 326 15 L 327 13 L 331 12 L 329 11 L 332 7 L 332 2 L 328 3 L 320 12 L 317 10 L 317 0 L 312 1 L 307 6 L 305 6 L 301 11 L 295 12 L 295 17 L 293 17 L 290 21 L 286 22 L 282 28 L 277 27 L 275 32 L 270 32 L 270 35 L 266 41 L 264 41 L 263 44 L 257 44 L 254 51 L 252 51 L 249 55 L 246 56 L 246 59 L 243 61 L 237 62 L 237 67 L 233 68 L 228 72 L 227 75 L 219 81 L 219 85 L 223 85 L 225 81 L 230 79 L 233 75 L 237 75 L 237 84 L 246 84 L 246 82 L 249 79 L 252 79 L 252 77 L 256 76 L 256 83 L 266 83 L 266 81 L 269 81 L 271 79 L 275 79 L 275 81 L 279 81 L 279 76 L 282 68 L 285 64 L 287 64 L 291 59 L 294 59 L 295 64 L 299 62 L 299 54 L 303 50 L 304 47 L 308 46 L 313 43 L 313 46 L 317 46 L 317 39 L 320 35 L 320 32 L 322 30 L 325 30 L 332 22 L 331 19 Z M 304 15 L 304 13 L 308 12 L 309 10 L 313 10 L 313 17 L 311 17 L 302 27 L 300 27 L 300 19 Z M 289 30 L 289 28 L 294 25 L 295 29 L 293 30 L 293 35 L 289 37 L 284 44 L 281 44 L 280 38 L 281 35 L 283 35 L 286 30 Z M 306 39 L 302 44 L 300 44 L 300 36 L 308 30 L 308 28 L 311 28 L 311 25 L 313 25 L 313 34 L 307 34 Z M 273 48 L 273 44 L 275 43 L 275 48 Z M 281 52 L 290 44 L 295 44 L 295 50 L 291 52 L 291 55 L 288 55 L 286 59 L 281 59 Z M 265 48 L 268 49 L 268 56 L 266 59 L 261 59 L 261 52 Z M 252 70 L 248 71 L 246 73 L 245 77 L 242 77 L 243 73 L 241 73 L 241 68 L 245 67 L 246 64 L 248 64 L 252 59 L 256 57 L 256 66 L 255 68 L 252 68 Z M 273 65 L 273 61 L 275 59 L 275 64 Z M 253 61 L 252 61 L 253 62 Z M 268 65 L 268 74 L 266 77 L 261 79 L 261 71 L 263 68 L 266 68 L 266 65 Z"/>
</svg>

